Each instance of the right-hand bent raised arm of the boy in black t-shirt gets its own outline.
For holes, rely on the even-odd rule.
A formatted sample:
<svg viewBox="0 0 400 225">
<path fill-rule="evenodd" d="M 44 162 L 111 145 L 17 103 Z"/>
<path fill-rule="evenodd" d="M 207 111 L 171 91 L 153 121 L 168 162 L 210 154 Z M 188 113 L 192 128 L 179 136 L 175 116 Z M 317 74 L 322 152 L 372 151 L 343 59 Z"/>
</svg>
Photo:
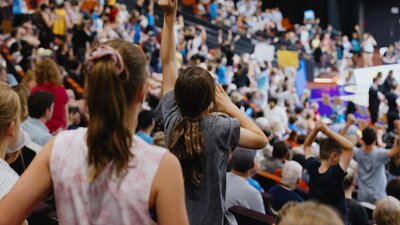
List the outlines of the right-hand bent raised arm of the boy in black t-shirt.
<svg viewBox="0 0 400 225">
<path fill-rule="evenodd" d="M 317 122 L 316 126 L 319 127 L 319 130 L 321 132 L 323 132 L 326 136 L 332 138 L 340 145 L 340 147 L 342 147 L 343 153 L 340 156 L 339 164 L 343 171 L 347 171 L 351 159 L 353 158 L 353 144 L 349 140 L 347 140 L 347 138 L 329 129 L 326 124 L 321 121 Z"/>
</svg>

